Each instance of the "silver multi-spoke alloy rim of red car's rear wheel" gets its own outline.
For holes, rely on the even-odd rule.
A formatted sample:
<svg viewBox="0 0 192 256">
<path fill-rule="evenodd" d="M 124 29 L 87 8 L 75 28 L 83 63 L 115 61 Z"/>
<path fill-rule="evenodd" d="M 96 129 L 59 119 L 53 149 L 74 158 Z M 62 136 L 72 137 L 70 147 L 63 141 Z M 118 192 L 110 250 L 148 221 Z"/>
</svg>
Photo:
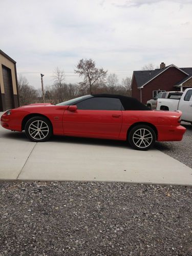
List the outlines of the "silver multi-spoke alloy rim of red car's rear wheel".
<svg viewBox="0 0 192 256">
<path fill-rule="evenodd" d="M 138 129 L 133 134 L 133 142 L 139 148 L 148 147 L 153 142 L 153 135 L 147 129 Z"/>
</svg>

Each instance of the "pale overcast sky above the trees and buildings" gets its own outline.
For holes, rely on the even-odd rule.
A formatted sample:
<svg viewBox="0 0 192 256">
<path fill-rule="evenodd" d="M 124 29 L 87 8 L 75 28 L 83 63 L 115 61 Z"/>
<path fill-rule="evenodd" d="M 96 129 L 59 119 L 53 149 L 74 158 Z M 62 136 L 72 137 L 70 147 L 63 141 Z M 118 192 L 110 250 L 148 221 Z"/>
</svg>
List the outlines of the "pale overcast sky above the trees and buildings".
<svg viewBox="0 0 192 256">
<path fill-rule="evenodd" d="M 81 81 L 81 58 L 119 81 L 149 62 L 192 67 L 192 0 L 0 1 L 0 49 L 35 88 L 40 73 L 51 85 L 57 66 Z"/>
</svg>

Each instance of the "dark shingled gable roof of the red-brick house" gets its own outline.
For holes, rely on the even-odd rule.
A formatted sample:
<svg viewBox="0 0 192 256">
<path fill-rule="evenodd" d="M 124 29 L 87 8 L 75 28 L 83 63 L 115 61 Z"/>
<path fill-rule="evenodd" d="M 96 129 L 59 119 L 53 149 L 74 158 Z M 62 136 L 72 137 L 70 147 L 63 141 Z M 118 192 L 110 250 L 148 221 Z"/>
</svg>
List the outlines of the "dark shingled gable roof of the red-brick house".
<svg viewBox="0 0 192 256">
<path fill-rule="evenodd" d="M 185 73 L 187 76 L 190 74 L 192 75 L 192 68 L 178 68 L 174 64 L 171 64 L 163 69 L 134 71 L 133 75 L 135 75 L 137 88 L 143 88 L 145 84 L 152 81 L 155 77 L 159 76 L 161 73 L 169 68 L 176 68 L 181 72 Z"/>
</svg>

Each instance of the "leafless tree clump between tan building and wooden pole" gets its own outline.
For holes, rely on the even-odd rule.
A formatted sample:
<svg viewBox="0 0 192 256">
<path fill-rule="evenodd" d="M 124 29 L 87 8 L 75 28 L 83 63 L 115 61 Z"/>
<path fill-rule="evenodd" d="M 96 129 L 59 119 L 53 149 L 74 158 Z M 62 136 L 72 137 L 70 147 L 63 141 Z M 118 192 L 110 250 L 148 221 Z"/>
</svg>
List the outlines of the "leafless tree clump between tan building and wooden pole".
<svg viewBox="0 0 192 256">
<path fill-rule="evenodd" d="M 20 105 L 34 103 L 37 100 L 37 90 L 32 86 L 29 86 L 27 78 L 19 75 L 17 83 Z"/>
</svg>

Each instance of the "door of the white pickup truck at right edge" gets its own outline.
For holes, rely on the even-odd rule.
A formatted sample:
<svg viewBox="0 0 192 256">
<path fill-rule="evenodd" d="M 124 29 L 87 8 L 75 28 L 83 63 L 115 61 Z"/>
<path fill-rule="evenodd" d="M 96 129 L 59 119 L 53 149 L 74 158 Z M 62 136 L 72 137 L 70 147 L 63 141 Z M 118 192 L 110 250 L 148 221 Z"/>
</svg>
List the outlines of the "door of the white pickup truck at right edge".
<svg viewBox="0 0 192 256">
<path fill-rule="evenodd" d="M 182 120 L 192 121 L 192 89 L 188 90 L 182 101 L 179 102 L 179 108 L 182 111 Z"/>
</svg>

